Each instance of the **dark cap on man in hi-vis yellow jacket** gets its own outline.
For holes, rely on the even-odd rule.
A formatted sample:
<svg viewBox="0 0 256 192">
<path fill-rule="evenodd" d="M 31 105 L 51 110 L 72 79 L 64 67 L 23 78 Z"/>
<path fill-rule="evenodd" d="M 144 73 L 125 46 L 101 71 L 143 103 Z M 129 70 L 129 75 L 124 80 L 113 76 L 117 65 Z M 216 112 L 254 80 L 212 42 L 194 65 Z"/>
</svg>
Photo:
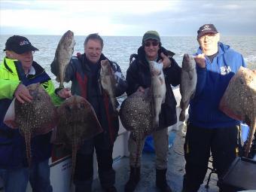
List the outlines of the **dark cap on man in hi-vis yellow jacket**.
<svg viewBox="0 0 256 192">
<path fill-rule="evenodd" d="M 5 50 L 12 50 L 17 54 L 22 54 L 31 50 L 38 50 L 38 48 L 32 46 L 29 39 L 20 35 L 14 35 L 6 41 Z"/>
</svg>

